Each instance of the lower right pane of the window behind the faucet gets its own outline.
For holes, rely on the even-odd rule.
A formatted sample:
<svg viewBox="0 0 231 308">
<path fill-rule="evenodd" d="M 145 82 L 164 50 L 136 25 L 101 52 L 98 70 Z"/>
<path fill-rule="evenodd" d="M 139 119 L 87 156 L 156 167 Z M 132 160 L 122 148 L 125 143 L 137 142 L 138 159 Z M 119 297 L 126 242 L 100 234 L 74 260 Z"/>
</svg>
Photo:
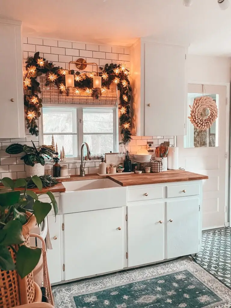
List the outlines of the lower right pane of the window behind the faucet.
<svg viewBox="0 0 231 308">
<path fill-rule="evenodd" d="M 113 152 L 113 135 L 83 135 L 83 141 L 89 145 L 92 155 Z M 86 155 L 86 147 L 84 147 L 84 151 L 84 155 Z"/>
</svg>

